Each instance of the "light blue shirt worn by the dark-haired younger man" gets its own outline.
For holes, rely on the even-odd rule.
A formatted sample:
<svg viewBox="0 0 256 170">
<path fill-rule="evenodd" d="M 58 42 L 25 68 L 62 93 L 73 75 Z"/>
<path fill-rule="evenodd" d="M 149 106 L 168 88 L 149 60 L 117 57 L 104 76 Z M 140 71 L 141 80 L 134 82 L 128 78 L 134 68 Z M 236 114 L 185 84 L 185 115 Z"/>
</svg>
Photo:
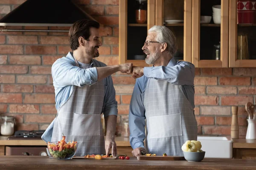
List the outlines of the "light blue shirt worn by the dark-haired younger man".
<svg viewBox="0 0 256 170">
<path fill-rule="evenodd" d="M 84 85 L 93 85 L 98 81 L 98 72 L 96 67 L 107 66 L 103 62 L 92 59 L 90 68 L 81 68 L 81 64 L 77 67 L 72 55 L 73 52 L 69 52 L 66 57 L 57 59 L 52 65 L 52 79 L 53 86 L 55 88 L 57 111 L 61 105 L 67 101 L 75 86 L 83 87 Z M 110 115 L 117 116 L 116 91 L 113 86 L 112 77 L 108 76 L 103 81 L 105 86 L 108 88 L 105 92 L 102 112 L 104 117 Z M 45 142 L 51 141 L 55 119 L 41 137 Z"/>
</svg>

